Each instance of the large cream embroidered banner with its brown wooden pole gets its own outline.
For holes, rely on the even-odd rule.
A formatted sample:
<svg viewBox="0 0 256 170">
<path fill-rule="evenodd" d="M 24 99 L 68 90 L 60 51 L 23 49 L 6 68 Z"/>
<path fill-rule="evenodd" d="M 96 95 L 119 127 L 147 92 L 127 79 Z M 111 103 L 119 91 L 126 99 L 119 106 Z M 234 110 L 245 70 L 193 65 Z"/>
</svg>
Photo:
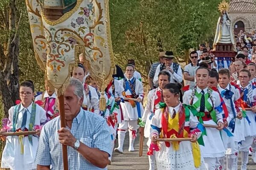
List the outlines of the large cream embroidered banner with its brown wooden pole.
<svg viewBox="0 0 256 170">
<path fill-rule="evenodd" d="M 61 127 L 66 127 L 63 93 L 83 54 L 85 67 L 104 87 L 115 68 L 108 0 L 26 0 L 35 58 L 58 95 Z M 62 145 L 68 170 L 67 146 Z"/>
</svg>

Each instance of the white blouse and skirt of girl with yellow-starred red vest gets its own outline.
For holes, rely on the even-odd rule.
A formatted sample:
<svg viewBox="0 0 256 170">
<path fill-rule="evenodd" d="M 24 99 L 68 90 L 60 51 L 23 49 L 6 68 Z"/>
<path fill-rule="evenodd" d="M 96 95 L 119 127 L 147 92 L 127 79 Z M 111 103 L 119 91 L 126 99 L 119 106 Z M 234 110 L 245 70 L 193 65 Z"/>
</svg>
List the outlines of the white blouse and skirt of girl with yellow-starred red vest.
<svg viewBox="0 0 256 170">
<path fill-rule="evenodd" d="M 178 113 L 180 105 L 177 105 L 175 108 L 169 107 L 169 116 L 173 116 L 174 111 Z M 163 109 L 157 109 L 154 116 L 152 117 L 151 125 L 158 128 L 162 128 L 162 116 Z M 196 128 L 198 125 L 198 119 L 193 114 L 190 114 L 189 121 L 185 122 L 185 127 L 189 126 L 191 128 Z M 159 132 L 151 128 L 151 136 L 153 133 L 158 134 Z M 201 132 L 195 132 L 196 136 L 200 136 Z M 170 142 L 170 147 L 166 147 L 165 142 L 160 143 L 160 150 L 156 153 L 157 161 L 157 170 L 205 170 L 204 161 L 201 157 L 201 166 L 195 168 L 194 158 L 192 154 L 192 143 L 189 141 L 183 141 L 179 143 L 179 149 L 174 150 L 172 142 Z"/>
</svg>

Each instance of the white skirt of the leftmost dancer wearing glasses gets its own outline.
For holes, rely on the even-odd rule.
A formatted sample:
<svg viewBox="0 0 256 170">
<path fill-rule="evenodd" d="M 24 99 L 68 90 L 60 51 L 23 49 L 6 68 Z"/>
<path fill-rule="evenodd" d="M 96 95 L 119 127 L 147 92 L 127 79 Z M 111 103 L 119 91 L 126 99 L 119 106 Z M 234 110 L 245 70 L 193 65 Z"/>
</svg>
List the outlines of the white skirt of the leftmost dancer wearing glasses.
<svg viewBox="0 0 256 170">
<path fill-rule="evenodd" d="M 35 155 L 38 148 L 38 138 L 32 136 L 33 145 L 29 143 L 29 138 L 23 138 L 24 153 L 21 154 L 21 147 L 18 136 L 7 136 L 6 145 L 3 149 L 1 160 L 2 168 L 12 170 L 33 170 L 36 169 Z"/>
</svg>

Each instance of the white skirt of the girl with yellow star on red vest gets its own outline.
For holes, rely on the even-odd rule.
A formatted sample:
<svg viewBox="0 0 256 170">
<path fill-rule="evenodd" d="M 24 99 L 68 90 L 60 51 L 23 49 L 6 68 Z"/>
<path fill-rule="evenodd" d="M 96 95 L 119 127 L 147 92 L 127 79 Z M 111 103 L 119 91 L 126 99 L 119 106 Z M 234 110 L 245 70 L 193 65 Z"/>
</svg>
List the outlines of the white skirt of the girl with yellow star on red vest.
<svg viewBox="0 0 256 170">
<path fill-rule="evenodd" d="M 156 152 L 157 170 L 205 170 L 204 159 L 201 157 L 201 166 L 195 168 L 191 142 L 180 142 L 179 150 L 166 147 L 164 142 L 160 142 L 161 149 Z"/>
</svg>

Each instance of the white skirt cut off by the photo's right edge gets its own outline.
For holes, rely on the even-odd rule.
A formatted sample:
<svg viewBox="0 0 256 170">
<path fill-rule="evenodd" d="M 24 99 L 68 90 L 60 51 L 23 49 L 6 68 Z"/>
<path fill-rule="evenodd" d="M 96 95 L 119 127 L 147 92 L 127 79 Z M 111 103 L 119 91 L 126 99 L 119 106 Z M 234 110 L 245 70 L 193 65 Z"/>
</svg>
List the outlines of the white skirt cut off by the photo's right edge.
<svg viewBox="0 0 256 170">
<path fill-rule="evenodd" d="M 252 111 L 246 111 L 246 115 L 250 120 L 250 125 L 246 119 L 244 119 L 244 137 L 246 136 L 256 136 L 256 114 Z"/>
</svg>

